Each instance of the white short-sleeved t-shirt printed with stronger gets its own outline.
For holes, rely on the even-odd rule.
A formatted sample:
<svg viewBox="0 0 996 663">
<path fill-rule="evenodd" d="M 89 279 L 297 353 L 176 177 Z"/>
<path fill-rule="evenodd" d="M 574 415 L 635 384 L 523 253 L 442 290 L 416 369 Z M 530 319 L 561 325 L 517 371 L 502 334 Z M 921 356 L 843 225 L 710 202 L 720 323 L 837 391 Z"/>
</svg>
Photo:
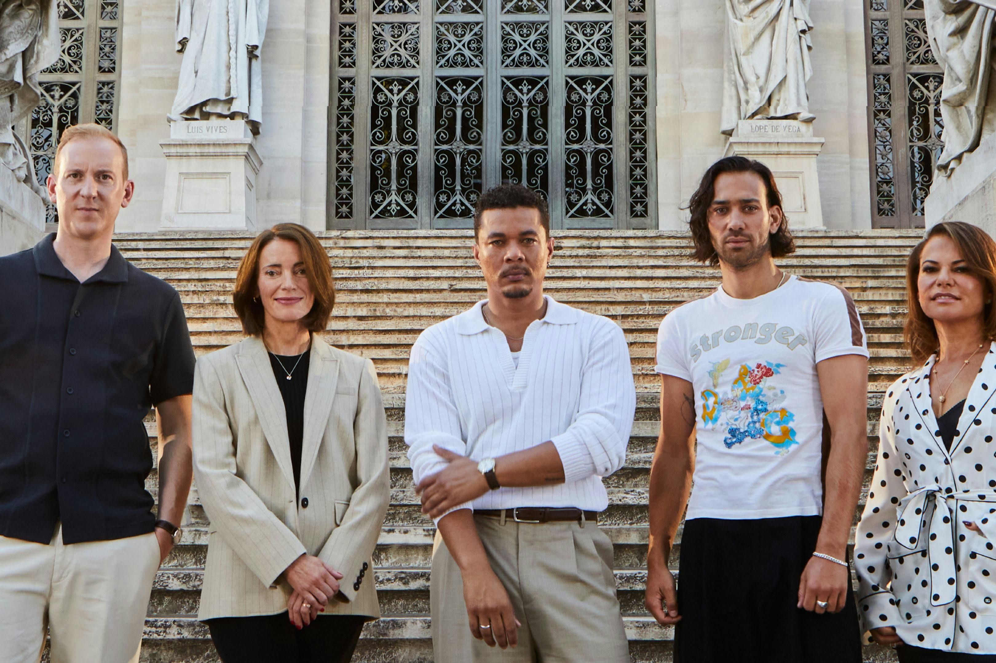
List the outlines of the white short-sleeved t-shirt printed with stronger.
<svg viewBox="0 0 996 663">
<path fill-rule="evenodd" d="M 664 318 L 655 369 L 695 393 L 687 519 L 822 515 L 816 364 L 842 354 L 869 355 L 865 330 L 851 296 L 828 283 L 790 277 L 752 300 L 718 288 Z"/>
</svg>

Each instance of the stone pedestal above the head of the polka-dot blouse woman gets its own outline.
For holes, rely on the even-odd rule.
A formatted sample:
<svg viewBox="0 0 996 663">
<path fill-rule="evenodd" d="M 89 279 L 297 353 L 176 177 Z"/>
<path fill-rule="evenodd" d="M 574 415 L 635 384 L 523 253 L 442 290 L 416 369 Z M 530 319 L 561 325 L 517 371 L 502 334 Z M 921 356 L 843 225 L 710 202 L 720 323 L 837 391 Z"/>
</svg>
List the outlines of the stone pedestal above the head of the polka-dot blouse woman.
<svg viewBox="0 0 996 663">
<path fill-rule="evenodd" d="M 935 172 L 923 204 L 927 228 L 941 221 L 966 221 L 996 237 L 996 133 L 965 154 L 949 177 Z"/>
</svg>

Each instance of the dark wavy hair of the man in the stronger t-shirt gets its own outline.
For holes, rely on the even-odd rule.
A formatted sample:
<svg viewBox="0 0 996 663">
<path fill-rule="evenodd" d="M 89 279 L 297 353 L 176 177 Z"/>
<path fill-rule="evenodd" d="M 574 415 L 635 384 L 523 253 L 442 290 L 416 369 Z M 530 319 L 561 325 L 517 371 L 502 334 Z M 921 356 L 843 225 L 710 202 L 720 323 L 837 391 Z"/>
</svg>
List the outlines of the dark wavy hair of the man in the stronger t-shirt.
<svg viewBox="0 0 996 663">
<path fill-rule="evenodd" d="M 705 171 L 698 188 L 688 200 L 688 207 L 685 208 L 691 213 L 688 226 L 691 230 L 692 242 L 695 243 L 692 257 L 700 263 L 709 263 L 713 267 L 719 264 L 719 255 L 716 253 L 716 247 L 712 245 L 712 236 L 709 234 L 709 205 L 712 204 L 716 193 L 716 178 L 727 172 L 753 172 L 757 173 L 764 181 L 768 209 L 778 207 L 782 210 L 782 223 L 778 230 L 772 233 L 769 240 L 771 242 L 771 256 L 772 258 L 781 258 L 795 253 L 796 241 L 789 231 L 789 217 L 786 216 L 785 208 L 782 207 L 782 194 L 778 190 L 775 176 L 771 170 L 768 166 L 754 159 L 748 159 L 744 156 L 726 156 L 713 163 Z"/>
</svg>

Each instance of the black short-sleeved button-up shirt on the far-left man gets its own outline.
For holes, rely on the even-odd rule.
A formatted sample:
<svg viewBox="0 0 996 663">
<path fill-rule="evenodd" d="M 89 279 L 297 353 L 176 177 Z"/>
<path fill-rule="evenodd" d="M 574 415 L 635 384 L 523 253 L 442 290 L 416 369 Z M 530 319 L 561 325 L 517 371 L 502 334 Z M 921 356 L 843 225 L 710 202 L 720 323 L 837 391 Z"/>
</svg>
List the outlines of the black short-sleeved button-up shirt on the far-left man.
<svg viewBox="0 0 996 663">
<path fill-rule="evenodd" d="M 0 535 L 66 544 L 152 531 L 142 419 L 193 389 L 179 295 L 117 248 L 85 283 L 55 235 L 0 258 Z"/>
</svg>

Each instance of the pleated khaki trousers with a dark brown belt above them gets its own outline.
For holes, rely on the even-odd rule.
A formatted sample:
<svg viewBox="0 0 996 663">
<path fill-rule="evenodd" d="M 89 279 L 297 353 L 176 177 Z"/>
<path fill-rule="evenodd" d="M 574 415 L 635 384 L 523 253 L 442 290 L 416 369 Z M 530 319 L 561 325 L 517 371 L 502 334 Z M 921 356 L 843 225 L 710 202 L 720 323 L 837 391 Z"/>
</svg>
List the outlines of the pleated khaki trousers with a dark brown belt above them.
<svg viewBox="0 0 996 663">
<path fill-rule="evenodd" d="M 435 663 L 629 663 L 613 545 L 594 523 L 474 518 L 491 568 L 522 622 L 517 647 L 470 634 L 460 569 L 436 533 L 429 602 Z"/>
</svg>

